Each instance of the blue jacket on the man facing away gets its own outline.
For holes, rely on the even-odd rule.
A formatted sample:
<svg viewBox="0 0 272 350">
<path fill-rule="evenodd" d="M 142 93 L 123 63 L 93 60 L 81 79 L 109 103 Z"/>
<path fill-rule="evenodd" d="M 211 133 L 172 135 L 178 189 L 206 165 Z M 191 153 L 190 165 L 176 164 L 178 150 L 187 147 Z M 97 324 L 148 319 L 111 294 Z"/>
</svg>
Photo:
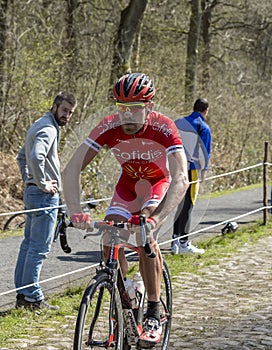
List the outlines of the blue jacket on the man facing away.
<svg viewBox="0 0 272 350">
<path fill-rule="evenodd" d="M 207 170 L 211 156 L 211 130 L 199 112 L 175 121 L 189 162 L 189 170 Z"/>
</svg>

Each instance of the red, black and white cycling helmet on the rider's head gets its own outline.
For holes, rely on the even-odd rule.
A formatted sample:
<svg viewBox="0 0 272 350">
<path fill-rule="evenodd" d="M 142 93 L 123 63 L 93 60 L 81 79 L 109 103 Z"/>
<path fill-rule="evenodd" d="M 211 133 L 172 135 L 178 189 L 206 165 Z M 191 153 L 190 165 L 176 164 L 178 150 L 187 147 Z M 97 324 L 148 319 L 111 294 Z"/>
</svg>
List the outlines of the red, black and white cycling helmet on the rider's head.
<svg viewBox="0 0 272 350">
<path fill-rule="evenodd" d="M 150 101 L 155 95 L 155 86 L 149 76 L 143 73 L 123 75 L 114 85 L 113 94 L 116 101 L 136 102 Z"/>
</svg>

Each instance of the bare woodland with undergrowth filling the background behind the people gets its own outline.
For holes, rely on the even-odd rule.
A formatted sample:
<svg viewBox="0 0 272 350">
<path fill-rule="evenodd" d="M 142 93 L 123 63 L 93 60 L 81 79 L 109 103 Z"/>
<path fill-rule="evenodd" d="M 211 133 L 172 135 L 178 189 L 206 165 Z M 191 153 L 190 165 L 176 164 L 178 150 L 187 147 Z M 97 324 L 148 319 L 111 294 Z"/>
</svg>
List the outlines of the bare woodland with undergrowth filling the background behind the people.
<svg viewBox="0 0 272 350">
<path fill-rule="evenodd" d="M 62 164 L 95 123 L 112 111 L 111 89 L 126 72 L 155 82 L 156 107 L 176 119 L 196 98 L 210 104 L 210 175 L 262 162 L 272 141 L 270 0 L 1 0 L 1 212 L 22 209 L 16 165 L 28 127 L 61 90 L 78 99 L 62 130 Z M 111 194 L 118 175 L 101 152 L 83 191 Z M 258 183 L 262 168 L 212 182 L 220 191 Z"/>
</svg>

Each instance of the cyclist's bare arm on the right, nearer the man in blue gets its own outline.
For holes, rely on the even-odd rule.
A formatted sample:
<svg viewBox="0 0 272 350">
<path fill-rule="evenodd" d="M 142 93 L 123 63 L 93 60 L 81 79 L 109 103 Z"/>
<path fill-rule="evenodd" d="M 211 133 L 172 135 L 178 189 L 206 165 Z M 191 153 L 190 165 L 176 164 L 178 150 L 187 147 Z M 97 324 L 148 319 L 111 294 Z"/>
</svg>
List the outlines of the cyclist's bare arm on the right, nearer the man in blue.
<svg viewBox="0 0 272 350">
<path fill-rule="evenodd" d="M 177 207 L 189 187 L 187 158 L 185 152 L 175 152 L 168 156 L 171 183 L 164 200 L 152 213 L 160 224 Z"/>
</svg>

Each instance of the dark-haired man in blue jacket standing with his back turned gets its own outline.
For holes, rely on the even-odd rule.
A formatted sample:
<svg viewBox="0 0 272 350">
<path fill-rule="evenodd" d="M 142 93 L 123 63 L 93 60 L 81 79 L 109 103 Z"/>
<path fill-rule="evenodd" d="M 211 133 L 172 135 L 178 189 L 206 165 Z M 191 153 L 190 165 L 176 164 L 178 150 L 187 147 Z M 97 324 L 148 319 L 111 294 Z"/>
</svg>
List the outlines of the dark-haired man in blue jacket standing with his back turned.
<svg viewBox="0 0 272 350">
<path fill-rule="evenodd" d="M 194 103 L 194 111 L 189 116 L 175 121 L 178 127 L 188 160 L 189 181 L 204 181 L 208 170 L 211 154 L 211 131 L 205 119 L 209 104 L 205 98 L 199 98 Z M 200 178 L 200 179 L 199 179 Z M 174 222 L 172 253 L 173 254 L 203 254 L 204 249 L 194 246 L 186 234 L 190 232 L 191 213 L 199 191 L 199 182 L 190 184 L 186 195 L 180 202 Z M 179 238 L 181 237 L 181 238 Z"/>
</svg>

